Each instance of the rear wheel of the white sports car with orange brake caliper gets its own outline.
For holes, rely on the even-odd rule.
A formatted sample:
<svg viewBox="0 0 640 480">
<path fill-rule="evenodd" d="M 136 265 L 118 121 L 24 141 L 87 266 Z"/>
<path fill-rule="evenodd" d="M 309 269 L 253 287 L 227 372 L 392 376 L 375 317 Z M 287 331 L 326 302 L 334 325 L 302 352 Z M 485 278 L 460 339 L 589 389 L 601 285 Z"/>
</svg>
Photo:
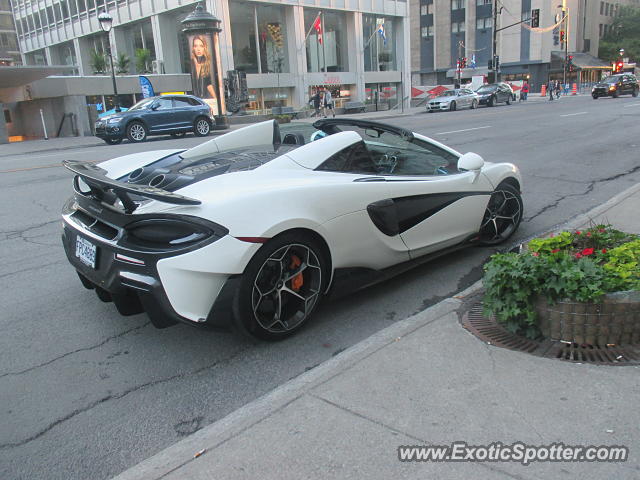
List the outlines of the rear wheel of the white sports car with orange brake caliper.
<svg viewBox="0 0 640 480">
<path fill-rule="evenodd" d="M 307 323 L 328 278 L 318 241 L 294 232 L 271 239 L 242 274 L 233 304 L 236 326 L 262 340 L 287 338 Z"/>
</svg>

